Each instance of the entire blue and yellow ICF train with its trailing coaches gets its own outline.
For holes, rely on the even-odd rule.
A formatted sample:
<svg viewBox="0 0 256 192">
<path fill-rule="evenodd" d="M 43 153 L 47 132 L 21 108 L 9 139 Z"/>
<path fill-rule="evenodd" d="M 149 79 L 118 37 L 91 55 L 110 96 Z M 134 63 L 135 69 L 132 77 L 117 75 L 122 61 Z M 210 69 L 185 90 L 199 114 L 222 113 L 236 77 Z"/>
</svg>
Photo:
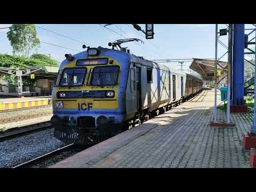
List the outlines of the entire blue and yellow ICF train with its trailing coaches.
<svg viewBox="0 0 256 192">
<path fill-rule="evenodd" d="M 171 109 L 202 90 L 202 80 L 126 51 L 66 54 L 52 91 L 54 137 L 96 143 Z"/>
</svg>

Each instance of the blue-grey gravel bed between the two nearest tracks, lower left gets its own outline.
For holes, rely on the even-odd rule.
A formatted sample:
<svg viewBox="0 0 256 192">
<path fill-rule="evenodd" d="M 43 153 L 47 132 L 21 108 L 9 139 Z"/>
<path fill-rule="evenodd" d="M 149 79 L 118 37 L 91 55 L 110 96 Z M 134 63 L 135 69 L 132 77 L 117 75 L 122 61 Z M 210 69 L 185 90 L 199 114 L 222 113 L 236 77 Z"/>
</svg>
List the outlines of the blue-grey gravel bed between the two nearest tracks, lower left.
<svg viewBox="0 0 256 192">
<path fill-rule="evenodd" d="M 64 147 L 53 137 L 54 129 L 38 131 L 0 142 L 0 167 L 14 167 Z"/>
</svg>

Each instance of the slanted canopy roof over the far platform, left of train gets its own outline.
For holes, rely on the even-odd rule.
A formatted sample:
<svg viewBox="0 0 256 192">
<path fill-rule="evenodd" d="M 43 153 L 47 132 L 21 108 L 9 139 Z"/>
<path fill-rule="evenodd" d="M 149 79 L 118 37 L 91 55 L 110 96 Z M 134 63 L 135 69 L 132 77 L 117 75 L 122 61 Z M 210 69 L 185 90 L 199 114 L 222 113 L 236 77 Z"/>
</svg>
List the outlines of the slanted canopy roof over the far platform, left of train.
<svg viewBox="0 0 256 192">
<path fill-rule="evenodd" d="M 20 75 L 26 76 L 29 74 L 35 74 L 39 77 L 56 77 L 58 74 L 58 66 L 34 66 L 23 69 L 13 69 L 8 67 L 0 67 L 0 74 L 9 74 L 9 75 Z M 17 72 L 21 71 L 21 72 Z"/>
</svg>

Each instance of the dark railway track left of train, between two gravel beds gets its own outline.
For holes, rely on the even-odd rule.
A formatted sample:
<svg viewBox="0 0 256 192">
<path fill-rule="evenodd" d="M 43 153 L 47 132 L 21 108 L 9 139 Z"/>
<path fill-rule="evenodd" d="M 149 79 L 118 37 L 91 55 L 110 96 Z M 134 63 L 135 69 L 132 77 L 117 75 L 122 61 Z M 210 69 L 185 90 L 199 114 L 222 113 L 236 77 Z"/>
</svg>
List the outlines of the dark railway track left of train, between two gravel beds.
<svg viewBox="0 0 256 192">
<path fill-rule="evenodd" d="M 22 127 L 15 127 L 6 131 L 0 132 L 0 141 L 11 139 L 14 137 L 17 137 L 19 135 L 27 134 L 30 132 L 34 132 L 37 130 L 43 130 L 43 129 L 51 129 L 53 126 L 50 123 L 50 121 L 43 122 L 43 123 L 36 123 L 33 125 L 27 125 Z"/>
</svg>

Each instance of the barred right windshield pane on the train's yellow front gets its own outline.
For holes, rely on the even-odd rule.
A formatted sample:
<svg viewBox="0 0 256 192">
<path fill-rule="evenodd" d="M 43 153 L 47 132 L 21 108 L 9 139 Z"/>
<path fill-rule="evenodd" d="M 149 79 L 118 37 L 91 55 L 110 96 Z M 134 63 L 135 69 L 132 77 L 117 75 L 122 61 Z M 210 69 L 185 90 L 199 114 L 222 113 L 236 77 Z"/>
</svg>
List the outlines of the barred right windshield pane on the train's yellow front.
<svg viewBox="0 0 256 192">
<path fill-rule="evenodd" d="M 91 77 L 92 86 L 117 85 L 119 66 L 94 67 Z"/>
</svg>

